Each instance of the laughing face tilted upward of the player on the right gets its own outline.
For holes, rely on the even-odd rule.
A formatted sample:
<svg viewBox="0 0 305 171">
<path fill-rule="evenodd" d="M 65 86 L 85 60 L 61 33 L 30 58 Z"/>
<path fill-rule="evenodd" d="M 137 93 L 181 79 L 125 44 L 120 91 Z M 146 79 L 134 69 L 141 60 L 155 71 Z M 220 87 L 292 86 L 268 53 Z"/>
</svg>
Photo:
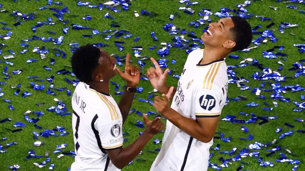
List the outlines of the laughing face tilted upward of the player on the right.
<svg viewBox="0 0 305 171">
<path fill-rule="evenodd" d="M 215 48 L 232 48 L 235 46 L 230 29 L 234 27 L 231 17 L 222 18 L 218 22 L 210 23 L 209 29 L 203 33 L 201 40 L 205 46 Z"/>
</svg>

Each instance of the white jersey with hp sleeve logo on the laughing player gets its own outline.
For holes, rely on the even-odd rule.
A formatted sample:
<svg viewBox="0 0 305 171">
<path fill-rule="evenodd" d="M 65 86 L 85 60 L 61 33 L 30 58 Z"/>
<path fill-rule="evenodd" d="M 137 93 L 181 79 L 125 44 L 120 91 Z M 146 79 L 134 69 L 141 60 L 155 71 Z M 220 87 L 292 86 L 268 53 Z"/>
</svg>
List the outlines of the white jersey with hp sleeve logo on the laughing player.
<svg viewBox="0 0 305 171">
<path fill-rule="evenodd" d="M 219 117 L 227 98 L 227 66 L 222 60 L 199 65 L 203 50 L 194 50 L 185 62 L 171 108 L 196 120 Z M 167 120 L 161 150 L 151 171 L 207 170 L 213 139 L 204 143 Z"/>
</svg>

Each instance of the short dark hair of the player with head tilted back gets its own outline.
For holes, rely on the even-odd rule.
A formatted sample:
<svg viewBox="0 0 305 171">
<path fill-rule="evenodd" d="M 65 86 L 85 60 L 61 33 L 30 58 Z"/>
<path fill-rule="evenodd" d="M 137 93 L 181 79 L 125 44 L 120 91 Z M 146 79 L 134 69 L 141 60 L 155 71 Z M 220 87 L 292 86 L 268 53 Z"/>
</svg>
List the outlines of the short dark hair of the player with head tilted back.
<svg viewBox="0 0 305 171">
<path fill-rule="evenodd" d="M 231 17 L 234 27 L 230 31 L 234 35 L 236 45 L 232 48 L 232 52 L 243 50 L 250 46 L 252 41 L 252 30 L 249 22 L 239 16 Z"/>
</svg>

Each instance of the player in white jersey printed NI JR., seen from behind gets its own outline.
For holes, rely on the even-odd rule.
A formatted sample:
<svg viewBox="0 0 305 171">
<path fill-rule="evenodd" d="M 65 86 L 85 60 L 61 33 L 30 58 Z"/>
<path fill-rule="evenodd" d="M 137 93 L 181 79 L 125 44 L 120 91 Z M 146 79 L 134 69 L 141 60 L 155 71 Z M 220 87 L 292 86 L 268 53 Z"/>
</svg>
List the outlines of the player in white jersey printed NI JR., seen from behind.
<svg viewBox="0 0 305 171">
<path fill-rule="evenodd" d="M 148 121 L 143 115 L 145 131 L 129 146 L 122 148 L 122 126 L 140 74 L 138 67 L 129 65 L 129 54 L 124 73 L 116 67 L 115 62 L 105 50 L 90 44 L 81 46 L 72 56 L 72 69 L 80 82 L 72 96 L 72 127 L 77 155 L 71 171 L 120 170 L 163 129 L 160 117 Z M 127 84 L 119 104 L 109 94 L 110 78 L 117 72 Z"/>
</svg>

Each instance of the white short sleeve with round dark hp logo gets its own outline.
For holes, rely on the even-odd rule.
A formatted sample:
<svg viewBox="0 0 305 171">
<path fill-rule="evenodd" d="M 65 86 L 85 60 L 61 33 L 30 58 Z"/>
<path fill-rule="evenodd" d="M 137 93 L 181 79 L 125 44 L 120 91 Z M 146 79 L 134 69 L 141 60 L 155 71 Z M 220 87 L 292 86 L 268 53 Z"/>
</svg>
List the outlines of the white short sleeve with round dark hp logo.
<svg viewBox="0 0 305 171">
<path fill-rule="evenodd" d="M 219 117 L 221 113 L 221 94 L 209 89 L 199 89 L 195 92 L 195 115 L 196 117 Z"/>
</svg>

